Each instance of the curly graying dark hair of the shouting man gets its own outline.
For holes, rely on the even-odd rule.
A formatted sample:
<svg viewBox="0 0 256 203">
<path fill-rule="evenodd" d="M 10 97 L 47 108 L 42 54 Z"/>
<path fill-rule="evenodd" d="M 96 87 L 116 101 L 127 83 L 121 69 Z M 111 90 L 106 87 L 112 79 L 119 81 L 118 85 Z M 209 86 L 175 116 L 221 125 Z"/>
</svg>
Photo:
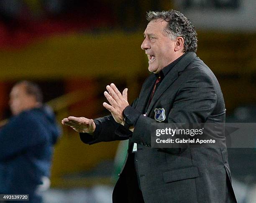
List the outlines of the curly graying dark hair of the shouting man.
<svg viewBox="0 0 256 203">
<path fill-rule="evenodd" d="M 184 38 L 184 52 L 197 51 L 197 33 L 191 21 L 177 10 L 149 11 L 147 20 L 163 19 L 168 22 L 166 33 L 170 34 L 172 40 L 177 37 Z"/>
</svg>

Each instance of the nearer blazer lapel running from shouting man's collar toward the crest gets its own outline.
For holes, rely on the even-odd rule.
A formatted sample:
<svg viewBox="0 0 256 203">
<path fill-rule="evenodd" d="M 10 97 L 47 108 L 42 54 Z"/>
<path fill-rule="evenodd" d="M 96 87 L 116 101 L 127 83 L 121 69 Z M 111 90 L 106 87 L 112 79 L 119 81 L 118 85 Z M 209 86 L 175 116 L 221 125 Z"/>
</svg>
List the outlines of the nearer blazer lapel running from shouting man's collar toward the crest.
<svg viewBox="0 0 256 203">
<path fill-rule="evenodd" d="M 189 65 L 189 63 L 196 57 L 195 52 L 188 52 L 164 77 L 163 81 L 159 85 L 156 93 L 154 94 L 151 103 L 148 107 L 148 115 L 150 114 L 152 108 L 154 107 L 156 101 L 164 93 L 164 91 L 178 78 L 179 72 L 184 71 L 184 69 Z"/>
</svg>

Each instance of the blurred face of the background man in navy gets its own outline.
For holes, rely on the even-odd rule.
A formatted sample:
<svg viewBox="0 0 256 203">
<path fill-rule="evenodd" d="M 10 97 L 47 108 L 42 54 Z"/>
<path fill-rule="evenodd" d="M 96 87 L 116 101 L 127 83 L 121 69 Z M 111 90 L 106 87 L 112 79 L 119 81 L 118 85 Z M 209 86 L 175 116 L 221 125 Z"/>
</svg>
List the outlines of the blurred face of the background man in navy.
<svg viewBox="0 0 256 203">
<path fill-rule="evenodd" d="M 13 115 L 18 115 L 24 110 L 34 108 L 37 102 L 34 96 L 27 94 L 24 84 L 18 84 L 10 92 L 9 104 Z"/>
</svg>

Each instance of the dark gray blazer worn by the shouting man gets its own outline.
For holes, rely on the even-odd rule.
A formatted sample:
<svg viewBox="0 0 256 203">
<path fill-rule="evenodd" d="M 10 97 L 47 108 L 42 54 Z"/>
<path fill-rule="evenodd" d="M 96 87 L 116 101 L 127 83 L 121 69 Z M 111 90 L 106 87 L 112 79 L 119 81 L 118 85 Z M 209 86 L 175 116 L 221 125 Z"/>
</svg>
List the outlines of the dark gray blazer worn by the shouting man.
<svg viewBox="0 0 256 203">
<path fill-rule="evenodd" d="M 163 122 L 166 123 L 225 122 L 225 104 L 216 77 L 194 52 L 187 53 L 164 77 L 145 117 L 148 95 L 155 80 L 151 74 L 144 82 L 138 99 L 124 111 L 131 122 L 134 115 L 139 114 L 133 133 L 117 124 L 112 116 L 107 116 L 95 119 L 95 137 L 80 134 L 81 140 L 94 144 L 129 139 L 128 160 L 134 154 L 131 153 L 133 143 L 138 143 L 137 175 L 146 203 L 236 202 L 222 130 L 212 132 L 219 138 L 219 147 L 151 148 L 151 127 L 157 122 L 154 119 L 156 108 L 165 109 Z M 126 162 L 123 171 L 126 170 L 127 174 L 131 168 L 131 164 L 128 166 Z M 123 191 L 127 184 L 123 174 L 115 185 L 113 202 L 125 202 Z"/>
</svg>

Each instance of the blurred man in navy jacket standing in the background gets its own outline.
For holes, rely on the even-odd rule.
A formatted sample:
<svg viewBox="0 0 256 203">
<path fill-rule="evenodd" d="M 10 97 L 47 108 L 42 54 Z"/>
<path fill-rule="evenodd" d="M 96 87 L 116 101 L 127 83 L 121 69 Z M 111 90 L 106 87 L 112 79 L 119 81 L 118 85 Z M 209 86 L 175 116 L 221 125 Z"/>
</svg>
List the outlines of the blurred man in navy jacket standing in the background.
<svg viewBox="0 0 256 203">
<path fill-rule="evenodd" d="M 54 113 L 43 105 L 41 89 L 32 82 L 13 86 L 10 110 L 13 117 L 0 129 L 0 194 L 29 194 L 30 202 L 40 203 L 40 188 L 50 184 L 60 129 Z"/>
</svg>

